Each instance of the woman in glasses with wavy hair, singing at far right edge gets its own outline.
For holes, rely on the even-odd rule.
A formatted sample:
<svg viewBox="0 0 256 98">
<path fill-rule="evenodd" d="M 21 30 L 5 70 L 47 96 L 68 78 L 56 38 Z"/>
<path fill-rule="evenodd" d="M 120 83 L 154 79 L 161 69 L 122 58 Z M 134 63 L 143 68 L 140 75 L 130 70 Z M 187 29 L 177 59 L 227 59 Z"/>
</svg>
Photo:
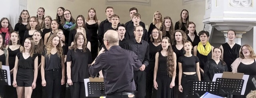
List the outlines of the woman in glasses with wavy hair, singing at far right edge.
<svg viewBox="0 0 256 98">
<path fill-rule="evenodd" d="M 250 45 L 243 45 L 239 52 L 239 58 L 237 58 L 232 64 L 232 72 L 244 73 L 249 75 L 248 82 L 246 84 L 246 90 L 244 95 L 234 96 L 233 98 L 246 98 L 246 95 L 251 90 L 256 90 L 252 78 L 256 78 L 256 55 Z"/>
</svg>

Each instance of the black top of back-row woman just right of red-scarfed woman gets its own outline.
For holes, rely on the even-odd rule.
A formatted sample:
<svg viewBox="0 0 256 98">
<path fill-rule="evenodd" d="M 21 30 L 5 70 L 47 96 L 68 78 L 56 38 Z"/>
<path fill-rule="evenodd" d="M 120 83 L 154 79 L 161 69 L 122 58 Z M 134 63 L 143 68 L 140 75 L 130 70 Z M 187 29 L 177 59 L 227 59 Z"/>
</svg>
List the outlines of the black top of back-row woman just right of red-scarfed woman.
<svg viewBox="0 0 256 98">
<path fill-rule="evenodd" d="M 27 30 L 26 28 L 27 25 L 24 25 L 22 23 L 17 23 L 14 27 L 14 31 L 18 31 L 19 35 L 20 35 L 20 43 L 22 43 L 24 41 L 24 33 Z"/>
</svg>

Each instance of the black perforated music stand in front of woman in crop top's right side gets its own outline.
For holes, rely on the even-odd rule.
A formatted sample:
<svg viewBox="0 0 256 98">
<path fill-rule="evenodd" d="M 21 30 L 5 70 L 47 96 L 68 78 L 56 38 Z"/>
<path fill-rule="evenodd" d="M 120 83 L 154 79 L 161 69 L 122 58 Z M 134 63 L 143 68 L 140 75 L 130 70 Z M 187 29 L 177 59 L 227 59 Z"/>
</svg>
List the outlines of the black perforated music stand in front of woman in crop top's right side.
<svg viewBox="0 0 256 98">
<path fill-rule="evenodd" d="M 189 84 L 189 92 L 188 98 L 200 98 L 206 92 L 211 94 L 218 95 L 218 91 L 220 88 L 219 82 L 211 82 L 211 81 L 188 81 Z"/>
</svg>

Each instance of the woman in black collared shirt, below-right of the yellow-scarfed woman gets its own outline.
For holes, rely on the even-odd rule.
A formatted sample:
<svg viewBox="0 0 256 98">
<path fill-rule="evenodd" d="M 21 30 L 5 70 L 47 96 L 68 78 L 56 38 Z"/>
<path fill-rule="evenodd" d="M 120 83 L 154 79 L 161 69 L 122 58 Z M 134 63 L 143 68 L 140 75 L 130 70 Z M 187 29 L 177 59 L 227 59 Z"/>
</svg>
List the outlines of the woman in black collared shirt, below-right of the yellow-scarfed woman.
<svg viewBox="0 0 256 98">
<path fill-rule="evenodd" d="M 213 59 L 208 60 L 204 65 L 204 80 L 212 81 L 214 74 L 228 71 L 226 63 L 221 59 L 222 49 L 214 47 Z"/>
</svg>

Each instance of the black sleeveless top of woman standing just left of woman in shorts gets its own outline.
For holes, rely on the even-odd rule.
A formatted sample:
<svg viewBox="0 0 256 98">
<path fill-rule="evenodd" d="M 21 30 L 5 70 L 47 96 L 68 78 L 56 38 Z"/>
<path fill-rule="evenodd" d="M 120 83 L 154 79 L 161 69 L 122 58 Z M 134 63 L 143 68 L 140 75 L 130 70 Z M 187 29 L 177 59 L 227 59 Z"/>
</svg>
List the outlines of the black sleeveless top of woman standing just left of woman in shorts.
<svg viewBox="0 0 256 98">
<path fill-rule="evenodd" d="M 17 55 L 17 53 L 20 53 L 20 47 L 16 50 L 12 50 L 12 49 L 10 49 L 10 46 L 9 46 L 7 50 L 9 53 L 9 59 L 8 59 L 9 67 L 10 67 L 10 70 L 12 70 L 15 65 L 16 55 Z"/>
</svg>

